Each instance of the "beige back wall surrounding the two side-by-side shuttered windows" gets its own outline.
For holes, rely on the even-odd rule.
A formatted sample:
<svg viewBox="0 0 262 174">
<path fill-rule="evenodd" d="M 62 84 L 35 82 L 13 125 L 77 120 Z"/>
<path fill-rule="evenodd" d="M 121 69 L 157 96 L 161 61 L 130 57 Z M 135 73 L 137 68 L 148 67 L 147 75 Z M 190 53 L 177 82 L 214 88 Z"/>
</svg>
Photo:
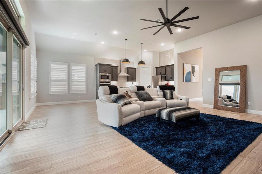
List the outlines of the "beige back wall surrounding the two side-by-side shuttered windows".
<svg viewBox="0 0 262 174">
<path fill-rule="evenodd" d="M 38 77 L 37 77 L 37 103 L 46 102 L 64 102 L 77 100 L 95 99 L 95 58 L 75 54 L 63 54 L 38 50 Z M 87 93 L 86 94 L 70 94 L 70 85 L 68 86 L 68 94 L 49 95 L 49 61 L 68 62 L 75 64 L 87 65 Z M 70 72 L 68 72 L 68 77 Z M 69 81 L 68 81 L 68 84 Z M 80 96 L 80 98 L 79 98 Z"/>
</svg>

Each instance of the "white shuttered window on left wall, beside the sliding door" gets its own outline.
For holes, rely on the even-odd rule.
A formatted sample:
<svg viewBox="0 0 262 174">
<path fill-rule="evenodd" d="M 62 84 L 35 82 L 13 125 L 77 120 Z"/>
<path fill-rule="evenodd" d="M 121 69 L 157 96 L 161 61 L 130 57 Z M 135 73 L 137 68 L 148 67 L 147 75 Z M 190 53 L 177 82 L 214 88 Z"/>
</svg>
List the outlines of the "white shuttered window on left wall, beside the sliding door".
<svg viewBox="0 0 262 174">
<path fill-rule="evenodd" d="M 31 98 L 36 96 L 37 90 L 37 60 L 31 52 Z"/>
</svg>

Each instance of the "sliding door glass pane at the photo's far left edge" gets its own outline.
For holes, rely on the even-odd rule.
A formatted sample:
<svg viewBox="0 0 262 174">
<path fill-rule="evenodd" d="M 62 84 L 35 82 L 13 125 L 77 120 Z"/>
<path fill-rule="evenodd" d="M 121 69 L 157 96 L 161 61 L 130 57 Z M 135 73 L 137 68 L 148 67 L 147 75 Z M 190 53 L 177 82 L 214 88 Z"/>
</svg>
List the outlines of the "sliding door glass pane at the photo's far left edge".
<svg viewBox="0 0 262 174">
<path fill-rule="evenodd" d="M 4 134 L 7 133 L 6 57 L 7 57 L 7 30 L 0 23 L 0 137 L 3 137 Z"/>
</svg>

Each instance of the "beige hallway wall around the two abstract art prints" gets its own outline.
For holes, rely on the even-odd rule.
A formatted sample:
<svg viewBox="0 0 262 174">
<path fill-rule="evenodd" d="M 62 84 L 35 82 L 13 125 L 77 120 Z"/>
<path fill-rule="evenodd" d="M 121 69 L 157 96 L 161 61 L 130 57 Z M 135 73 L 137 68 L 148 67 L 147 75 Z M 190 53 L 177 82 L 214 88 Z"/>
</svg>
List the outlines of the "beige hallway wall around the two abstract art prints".
<svg viewBox="0 0 262 174">
<path fill-rule="evenodd" d="M 191 50 L 178 56 L 178 94 L 190 99 L 202 97 L 202 50 Z M 199 66 L 199 82 L 183 82 L 183 63 Z"/>
</svg>

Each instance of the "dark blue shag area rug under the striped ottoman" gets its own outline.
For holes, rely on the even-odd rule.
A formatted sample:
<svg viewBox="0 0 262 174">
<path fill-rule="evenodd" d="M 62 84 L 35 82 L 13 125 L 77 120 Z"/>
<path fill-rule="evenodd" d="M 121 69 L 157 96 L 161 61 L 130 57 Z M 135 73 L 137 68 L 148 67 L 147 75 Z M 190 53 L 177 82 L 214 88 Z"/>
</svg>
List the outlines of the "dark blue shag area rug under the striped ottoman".
<svg viewBox="0 0 262 174">
<path fill-rule="evenodd" d="M 262 124 L 201 113 L 199 122 L 176 128 L 153 115 L 113 129 L 177 173 L 218 174 L 262 133 Z"/>
</svg>

